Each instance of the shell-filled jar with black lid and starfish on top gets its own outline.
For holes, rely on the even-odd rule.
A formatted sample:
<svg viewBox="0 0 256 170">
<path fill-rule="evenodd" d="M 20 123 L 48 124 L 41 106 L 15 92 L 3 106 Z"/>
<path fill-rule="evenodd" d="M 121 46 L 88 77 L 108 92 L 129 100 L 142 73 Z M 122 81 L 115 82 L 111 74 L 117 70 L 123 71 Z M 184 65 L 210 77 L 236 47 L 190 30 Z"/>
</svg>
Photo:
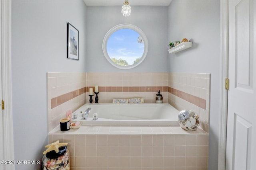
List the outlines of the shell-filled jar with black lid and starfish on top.
<svg viewBox="0 0 256 170">
<path fill-rule="evenodd" d="M 69 150 L 66 145 L 68 143 L 56 141 L 45 146 L 48 149 L 43 152 L 43 170 L 70 170 Z"/>
</svg>

